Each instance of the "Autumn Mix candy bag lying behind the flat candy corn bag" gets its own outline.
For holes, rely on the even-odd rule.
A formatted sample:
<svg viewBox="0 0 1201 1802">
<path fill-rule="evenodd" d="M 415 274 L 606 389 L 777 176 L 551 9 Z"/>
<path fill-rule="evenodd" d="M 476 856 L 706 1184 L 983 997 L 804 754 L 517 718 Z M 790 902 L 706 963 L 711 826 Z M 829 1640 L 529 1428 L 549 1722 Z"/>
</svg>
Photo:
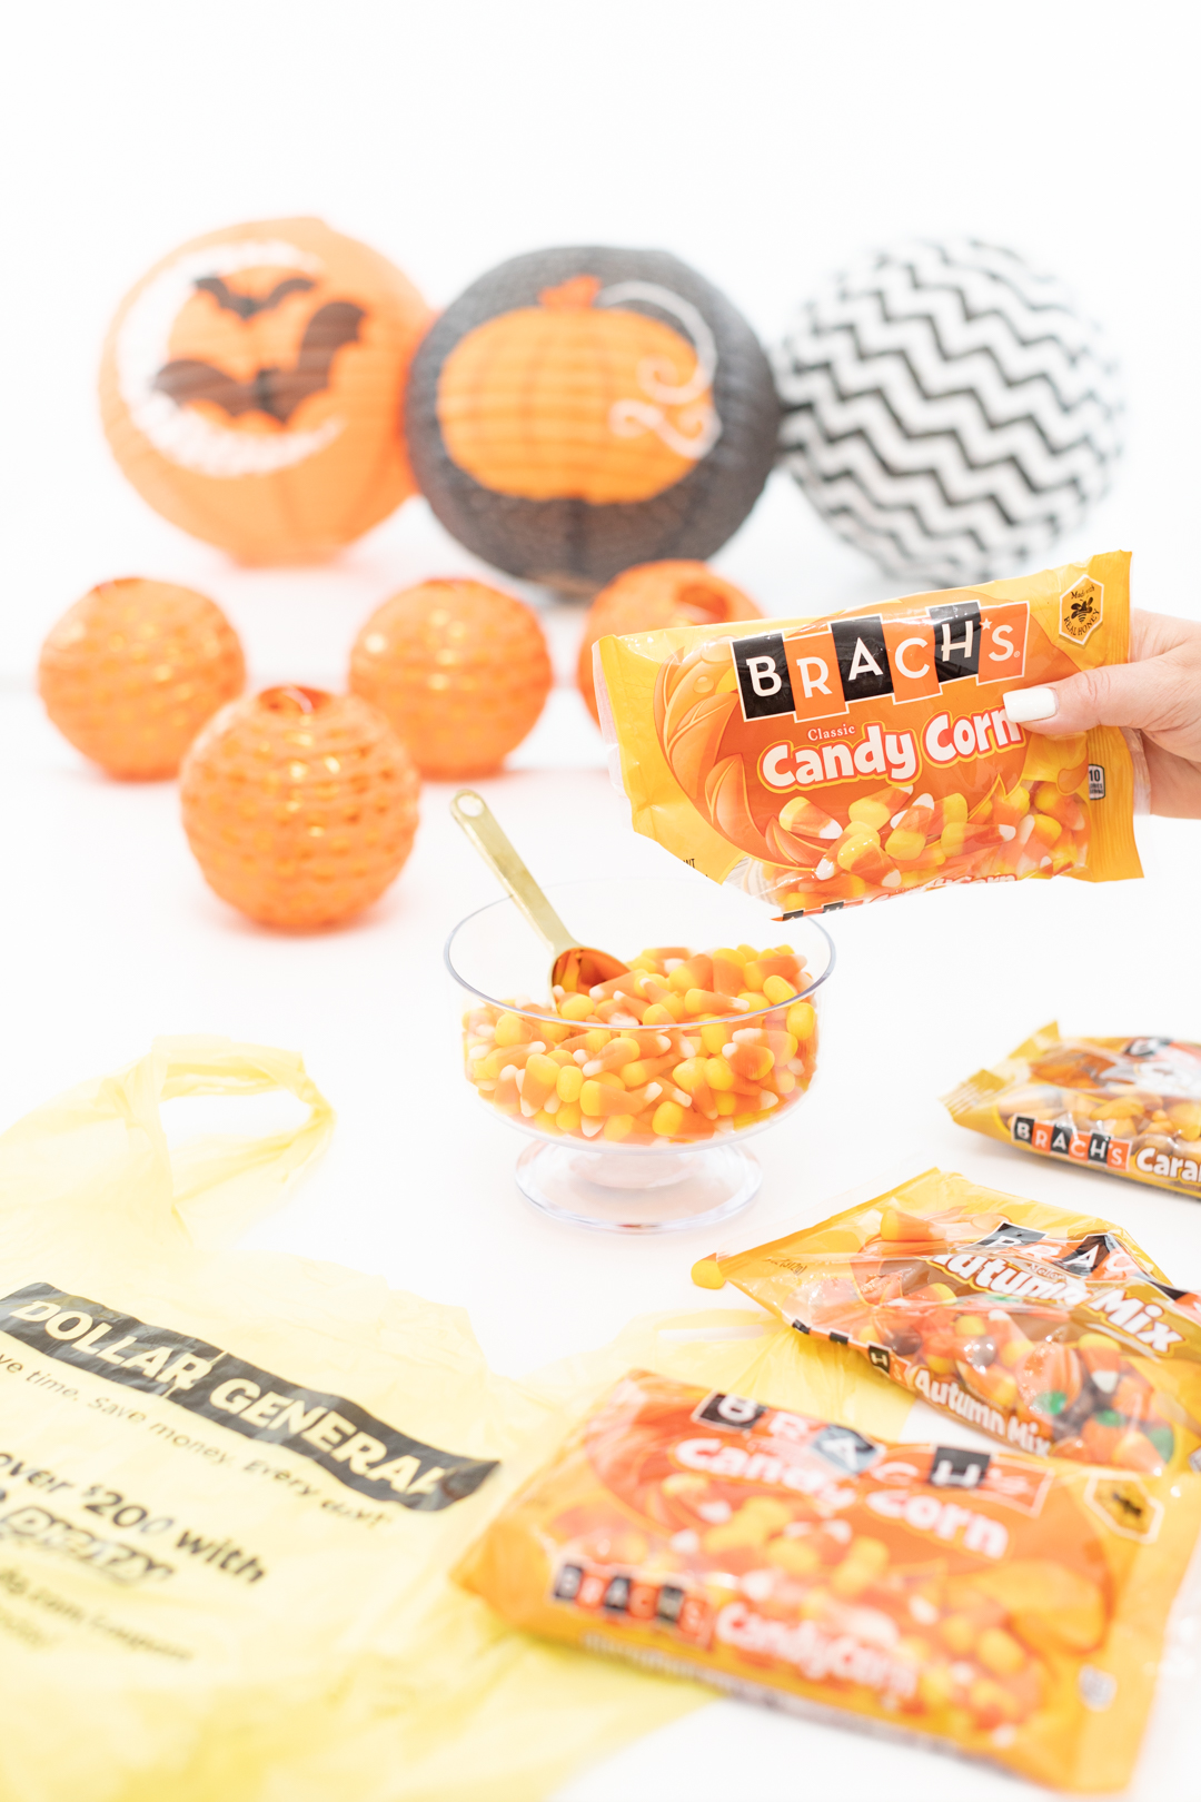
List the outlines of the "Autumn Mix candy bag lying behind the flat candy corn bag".
<svg viewBox="0 0 1201 1802">
<path fill-rule="evenodd" d="M 1201 1299 L 1107 1220 L 927 1169 L 717 1265 L 1007 1445 L 1201 1470 Z"/>
</svg>

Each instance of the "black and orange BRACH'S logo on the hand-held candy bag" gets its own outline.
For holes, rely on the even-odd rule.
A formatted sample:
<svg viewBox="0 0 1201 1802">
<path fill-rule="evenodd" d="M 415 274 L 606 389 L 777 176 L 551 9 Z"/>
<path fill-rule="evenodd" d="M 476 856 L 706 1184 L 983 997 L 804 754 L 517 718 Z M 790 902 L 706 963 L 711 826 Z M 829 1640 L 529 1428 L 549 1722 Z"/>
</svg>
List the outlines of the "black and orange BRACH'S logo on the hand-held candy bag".
<svg viewBox="0 0 1201 1802">
<path fill-rule="evenodd" d="M 853 701 L 931 701 L 969 678 L 980 685 L 1019 681 L 1028 620 L 1025 600 L 983 609 L 978 600 L 958 600 L 902 618 L 873 613 L 801 633 L 735 638 L 742 717 L 839 719 Z"/>
</svg>

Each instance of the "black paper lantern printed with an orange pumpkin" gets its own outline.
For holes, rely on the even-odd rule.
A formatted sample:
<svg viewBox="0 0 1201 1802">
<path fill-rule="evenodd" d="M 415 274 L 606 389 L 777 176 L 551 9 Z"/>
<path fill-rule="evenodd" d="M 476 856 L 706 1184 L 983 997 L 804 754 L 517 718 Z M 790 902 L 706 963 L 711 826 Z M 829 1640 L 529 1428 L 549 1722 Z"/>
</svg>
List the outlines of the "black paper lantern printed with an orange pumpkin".
<svg viewBox="0 0 1201 1802">
<path fill-rule="evenodd" d="M 767 481 L 780 407 L 745 319 L 663 250 L 555 249 L 472 283 L 405 402 L 418 485 L 461 544 L 589 595 L 708 557 Z"/>
</svg>

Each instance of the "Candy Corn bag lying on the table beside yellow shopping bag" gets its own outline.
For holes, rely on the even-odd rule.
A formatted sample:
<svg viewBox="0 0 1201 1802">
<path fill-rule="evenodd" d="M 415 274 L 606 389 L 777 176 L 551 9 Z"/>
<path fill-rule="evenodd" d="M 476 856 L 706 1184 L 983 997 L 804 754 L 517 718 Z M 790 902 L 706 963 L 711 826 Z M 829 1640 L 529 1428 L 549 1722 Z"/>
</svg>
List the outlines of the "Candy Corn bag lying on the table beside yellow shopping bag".
<svg viewBox="0 0 1201 1802">
<path fill-rule="evenodd" d="M 457 1580 L 506 1620 L 796 1714 L 1120 1789 L 1201 1481 L 880 1443 L 630 1371 Z"/>
</svg>

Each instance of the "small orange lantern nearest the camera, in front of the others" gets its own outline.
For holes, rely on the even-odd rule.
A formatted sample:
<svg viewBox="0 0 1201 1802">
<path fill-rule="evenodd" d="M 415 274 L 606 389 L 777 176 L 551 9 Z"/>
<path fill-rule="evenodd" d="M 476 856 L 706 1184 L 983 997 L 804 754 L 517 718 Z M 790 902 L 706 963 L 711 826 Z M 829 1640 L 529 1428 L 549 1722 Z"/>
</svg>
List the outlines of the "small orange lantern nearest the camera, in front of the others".
<svg viewBox="0 0 1201 1802">
<path fill-rule="evenodd" d="M 205 881 L 265 926 L 331 926 L 400 872 L 418 773 L 357 696 L 266 688 L 227 706 L 182 775 L 184 831 Z"/>
</svg>

